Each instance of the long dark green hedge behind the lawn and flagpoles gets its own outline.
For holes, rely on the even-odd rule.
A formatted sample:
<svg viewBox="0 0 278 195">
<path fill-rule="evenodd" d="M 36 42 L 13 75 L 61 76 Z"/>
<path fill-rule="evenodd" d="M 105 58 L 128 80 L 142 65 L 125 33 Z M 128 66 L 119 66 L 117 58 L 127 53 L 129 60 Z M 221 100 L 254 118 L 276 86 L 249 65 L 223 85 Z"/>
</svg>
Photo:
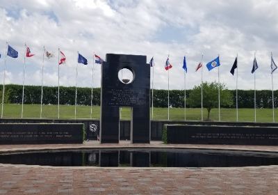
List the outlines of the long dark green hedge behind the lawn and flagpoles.
<svg viewBox="0 0 278 195">
<path fill-rule="evenodd" d="M 0 86 L 0 98 L 2 99 L 2 88 Z M 190 104 L 189 97 L 193 93 L 193 89 L 186 90 L 186 107 L 201 107 L 199 104 Z M 236 90 L 228 90 L 231 93 L 232 103 L 222 105 L 223 108 L 236 107 Z M 43 104 L 57 104 L 58 102 L 58 87 L 44 86 L 43 88 Z M 204 93 L 204 91 L 203 91 Z M 152 93 L 151 104 L 152 104 Z M 25 86 L 24 88 L 24 104 L 40 104 L 41 86 Z M 93 88 L 92 104 L 100 105 L 100 88 Z M 275 107 L 278 107 L 278 91 L 274 91 Z M 206 102 L 208 100 L 203 100 Z M 216 100 L 218 101 L 218 99 Z M 4 102 L 10 104 L 22 103 L 22 86 L 15 84 L 5 85 Z M 60 86 L 60 104 L 75 104 L 75 87 Z M 77 104 L 91 104 L 91 88 L 77 88 Z M 167 107 L 167 90 L 154 89 L 154 107 Z M 184 107 L 184 91 L 170 90 L 170 107 Z M 254 90 L 238 90 L 238 107 L 239 108 L 254 108 Z M 261 90 L 256 91 L 256 107 L 257 108 L 272 108 L 272 91 Z"/>
</svg>

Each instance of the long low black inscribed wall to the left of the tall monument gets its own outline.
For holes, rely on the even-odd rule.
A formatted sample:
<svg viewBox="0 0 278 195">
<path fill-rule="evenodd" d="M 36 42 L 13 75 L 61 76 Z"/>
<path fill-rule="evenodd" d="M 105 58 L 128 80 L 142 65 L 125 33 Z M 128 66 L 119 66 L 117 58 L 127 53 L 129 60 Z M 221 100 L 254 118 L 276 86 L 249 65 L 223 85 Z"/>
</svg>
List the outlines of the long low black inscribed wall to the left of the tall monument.
<svg viewBox="0 0 278 195">
<path fill-rule="evenodd" d="M 83 124 L 0 124 L 0 144 L 83 143 Z"/>
</svg>

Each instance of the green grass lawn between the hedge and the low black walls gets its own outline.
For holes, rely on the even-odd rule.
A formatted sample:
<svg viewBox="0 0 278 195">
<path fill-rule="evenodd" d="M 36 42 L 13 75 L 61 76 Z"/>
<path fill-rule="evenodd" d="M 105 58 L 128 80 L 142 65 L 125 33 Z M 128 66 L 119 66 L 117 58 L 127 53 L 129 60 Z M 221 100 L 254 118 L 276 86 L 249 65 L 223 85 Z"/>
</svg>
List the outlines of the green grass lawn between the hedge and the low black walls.
<svg viewBox="0 0 278 195">
<path fill-rule="evenodd" d="M 21 104 L 4 104 L 3 118 L 21 118 Z M 151 114 L 152 114 L 152 110 Z M 204 111 L 206 119 L 207 111 Z M 100 107 L 92 107 L 92 118 L 99 118 Z M 122 119 L 130 119 L 131 109 L 124 107 Z M 275 121 L 278 121 L 278 111 L 275 110 Z M 24 104 L 23 118 L 40 118 L 39 104 Z M 42 118 L 58 118 L 57 105 L 43 105 Z M 74 106 L 60 105 L 60 118 L 74 118 Z M 76 118 L 90 118 L 90 106 L 78 106 Z M 152 116 L 151 116 L 152 118 Z M 167 120 L 167 108 L 154 108 L 154 120 Z M 184 120 L 184 109 L 171 108 L 170 120 Z M 186 109 L 186 120 L 201 120 L 201 109 Z M 211 120 L 218 120 L 218 109 L 211 110 Z M 236 109 L 221 109 L 222 121 L 236 121 Z M 254 109 L 238 109 L 239 121 L 254 121 Z M 272 122 L 272 109 L 256 109 L 257 122 Z"/>
</svg>

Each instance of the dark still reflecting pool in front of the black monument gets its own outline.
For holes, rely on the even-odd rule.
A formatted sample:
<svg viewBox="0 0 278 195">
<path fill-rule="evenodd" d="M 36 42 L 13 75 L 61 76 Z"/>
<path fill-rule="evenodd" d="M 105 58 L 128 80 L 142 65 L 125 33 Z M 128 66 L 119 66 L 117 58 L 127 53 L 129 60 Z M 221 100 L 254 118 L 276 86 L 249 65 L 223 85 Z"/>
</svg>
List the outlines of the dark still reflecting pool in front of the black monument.
<svg viewBox="0 0 278 195">
<path fill-rule="evenodd" d="M 0 163 L 42 166 L 268 166 L 278 165 L 278 153 L 174 148 L 96 148 L 1 153 Z"/>
</svg>

